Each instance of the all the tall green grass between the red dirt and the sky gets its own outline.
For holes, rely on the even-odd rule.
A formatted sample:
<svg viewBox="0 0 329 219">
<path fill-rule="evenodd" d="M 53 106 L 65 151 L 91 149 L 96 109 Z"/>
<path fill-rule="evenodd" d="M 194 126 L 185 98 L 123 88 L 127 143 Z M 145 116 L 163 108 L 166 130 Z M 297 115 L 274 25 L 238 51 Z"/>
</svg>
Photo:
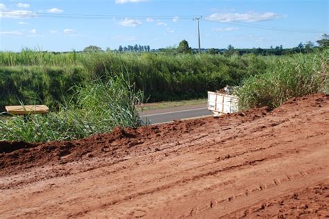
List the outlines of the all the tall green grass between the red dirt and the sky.
<svg viewBox="0 0 329 219">
<path fill-rule="evenodd" d="M 293 96 L 328 94 L 328 58 L 329 50 L 283 57 L 0 53 L 0 109 L 22 103 L 51 109 L 28 119 L 2 117 L 0 140 L 80 139 L 137 127 L 145 100 L 144 110 L 206 103 L 207 91 L 225 85 L 235 86 L 241 109 L 278 107 Z"/>
</svg>

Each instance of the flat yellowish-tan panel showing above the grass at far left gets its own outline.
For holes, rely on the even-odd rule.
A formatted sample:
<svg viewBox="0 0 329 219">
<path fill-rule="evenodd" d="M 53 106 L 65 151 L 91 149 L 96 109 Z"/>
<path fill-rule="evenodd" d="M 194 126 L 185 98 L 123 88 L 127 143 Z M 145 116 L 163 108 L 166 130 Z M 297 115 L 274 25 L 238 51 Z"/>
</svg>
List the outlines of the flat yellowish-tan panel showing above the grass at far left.
<svg viewBox="0 0 329 219">
<path fill-rule="evenodd" d="M 6 110 L 9 114 L 25 115 L 25 114 L 44 114 L 49 111 L 47 105 L 17 105 L 6 106 Z"/>
</svg>

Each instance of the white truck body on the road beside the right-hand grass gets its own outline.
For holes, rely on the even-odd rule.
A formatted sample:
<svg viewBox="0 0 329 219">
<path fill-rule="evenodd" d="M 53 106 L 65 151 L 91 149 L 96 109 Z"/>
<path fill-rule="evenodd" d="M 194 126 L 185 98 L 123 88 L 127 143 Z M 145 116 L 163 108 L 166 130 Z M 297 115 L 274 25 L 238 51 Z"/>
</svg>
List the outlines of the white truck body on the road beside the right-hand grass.
<svg viewBox="0 0 329 219">
<path fill-rule="evenodd" d="M 237 112 L 237 102 L 237 96 L 208 91 L 208 109 L 214 116 Z"/>
</svg>

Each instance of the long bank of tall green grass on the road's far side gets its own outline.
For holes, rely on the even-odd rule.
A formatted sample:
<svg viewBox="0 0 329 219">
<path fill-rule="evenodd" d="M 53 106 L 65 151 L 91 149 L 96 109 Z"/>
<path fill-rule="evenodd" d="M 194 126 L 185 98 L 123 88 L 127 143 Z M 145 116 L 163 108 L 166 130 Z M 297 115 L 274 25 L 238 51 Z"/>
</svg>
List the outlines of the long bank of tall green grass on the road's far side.
<svg viewBox="0 0 329 219">
<path fill-rule="evenodd" d="M 160 53 L 49 53 L 25 49 L 0 53 L 0 112 L 5 105 L 69 98 L 73 85 L 124 73 L 150 102 L 205 98 L 208 90 L 239 85 L 263 73 L 272 60 L 256 55 L 165 55 Z"/>
</svg>

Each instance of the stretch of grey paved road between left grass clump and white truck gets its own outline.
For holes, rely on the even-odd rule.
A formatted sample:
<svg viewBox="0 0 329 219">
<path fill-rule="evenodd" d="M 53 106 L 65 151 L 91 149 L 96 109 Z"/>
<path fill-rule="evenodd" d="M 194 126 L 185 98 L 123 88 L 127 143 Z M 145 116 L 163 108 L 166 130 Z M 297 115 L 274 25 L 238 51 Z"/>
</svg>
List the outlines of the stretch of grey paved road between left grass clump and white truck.
<svg viewBox="0 0 329 219">
<path fill-rule="evenodd" d="M 144 123 L 149 121 L 151 124 L 166 123 L 174 119 L 188 119 L 194 117 L 210 116 L 212 112 L 208 110 L 207 105 L 190 105 L 183 107 L 171 107 L 166 109 L 153 109 L 140 113 Z"/>
</svg>

